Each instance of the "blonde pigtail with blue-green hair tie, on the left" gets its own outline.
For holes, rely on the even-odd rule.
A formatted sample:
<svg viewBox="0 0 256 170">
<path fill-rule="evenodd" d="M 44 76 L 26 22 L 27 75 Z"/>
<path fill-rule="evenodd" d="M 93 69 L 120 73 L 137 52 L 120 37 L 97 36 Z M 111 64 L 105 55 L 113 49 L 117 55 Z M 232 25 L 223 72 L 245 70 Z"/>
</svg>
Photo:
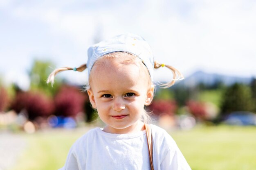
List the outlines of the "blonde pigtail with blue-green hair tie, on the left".
<svg viewBox="0 0 256 170">
<path fill-rule="evenodd" d="M 79 71 L 82 72 L 83 70 L 85 70 L 87 68 L 86 64 L 80 65 L 79 68 L 71 68 L 71 67 L 61 67 L 61 68 L 57 68 L 55 69 L 47 78 L 46 83 L 51 83 L 52 85 L 54 84 L 54 77 L 56 76 L 56 74 L 58 74 L 59 72 L 62 71 L 66 71 L 66 70 L 74 70 L 74 71 Z"/>
</svg>

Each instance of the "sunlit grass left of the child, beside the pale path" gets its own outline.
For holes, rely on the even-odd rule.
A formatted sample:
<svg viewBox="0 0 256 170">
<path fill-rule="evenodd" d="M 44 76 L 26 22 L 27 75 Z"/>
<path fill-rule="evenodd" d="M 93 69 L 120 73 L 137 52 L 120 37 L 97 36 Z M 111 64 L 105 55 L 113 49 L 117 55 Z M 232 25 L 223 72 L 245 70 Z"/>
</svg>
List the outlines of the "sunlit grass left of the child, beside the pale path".
<svg viewBox="0 0 256 170">
<path fill-rule="evenodd" d="M 23 136 L 27 148 L 11 170 L 56 170 L 61 168 L 69 148 L 87 129 L 63 131 L 60 129 Z"/>
</svg>

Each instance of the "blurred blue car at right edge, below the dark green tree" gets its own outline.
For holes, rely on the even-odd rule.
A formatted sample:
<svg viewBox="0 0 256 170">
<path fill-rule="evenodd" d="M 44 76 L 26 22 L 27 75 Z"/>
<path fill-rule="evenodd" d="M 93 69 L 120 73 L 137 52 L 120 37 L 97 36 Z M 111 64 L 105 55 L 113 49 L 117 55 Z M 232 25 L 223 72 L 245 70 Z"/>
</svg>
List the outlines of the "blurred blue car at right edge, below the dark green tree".
<svg viewBox="0 0 256 170">
<path fill-rule="evenodd" d="M 256 126 L 256 114 L 249 111 L 234 111 L 224 121 L 232 125 L 254 125 Z"/>
</svg>

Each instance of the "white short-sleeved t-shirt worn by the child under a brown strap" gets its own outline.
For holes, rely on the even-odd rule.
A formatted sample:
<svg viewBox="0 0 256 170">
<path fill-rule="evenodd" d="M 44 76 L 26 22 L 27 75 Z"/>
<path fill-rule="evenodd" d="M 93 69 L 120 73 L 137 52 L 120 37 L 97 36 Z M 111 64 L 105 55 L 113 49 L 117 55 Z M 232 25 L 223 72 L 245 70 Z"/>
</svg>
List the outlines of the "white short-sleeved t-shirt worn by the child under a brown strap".
<svg viewBox="0 0 256 170">
<path fill-rule="evenodd" d="M 173 138 L 150 124 L 155 170 L 191 170 Z M 70 148 L 60 170 L 150 170 L 146 130 L 112 134 L 95 128 Z"/>
</svg>

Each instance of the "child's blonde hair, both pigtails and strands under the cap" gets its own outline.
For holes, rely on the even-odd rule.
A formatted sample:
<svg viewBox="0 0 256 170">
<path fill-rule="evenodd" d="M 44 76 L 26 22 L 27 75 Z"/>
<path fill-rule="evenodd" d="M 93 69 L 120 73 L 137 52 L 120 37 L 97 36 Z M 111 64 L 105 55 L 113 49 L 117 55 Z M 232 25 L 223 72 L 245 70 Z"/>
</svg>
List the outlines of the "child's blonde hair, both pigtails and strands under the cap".
<svg viewBox="0 0 256 170">
<path fill-rule="evenodd" d="M 122 63 L 123 64 L 127 64 L 127 63 L 136 63 L 134 62 L 134 59 L 137 58 L 137 56 L 133 55 L 133 54 L 130 54 L 130 53 L 127 53 L 127 52 L 112 52 L 112 53 L 109 53 L 109 54 L 105 54 L 103 55 L 99 60 L 97 61 L 100 61 L 100 60 L 104 60 L 104 59 L 114 59 L 114 58 L 117 58 L 117 57 L 125 57 L 127 55 L 131 55 L 133 58 L 129 59 L 129 60 L 125 60 L 123 61 Z M 95 62 L 93 67 L 92 67 L 92 70 L 91 72 L 94 72 L 94 67 L 98 66 L 98 65 L 106 65 L 108 64 L 108 60 L 105 60 L 104 62 Z M 142 62 L 140 62 L 141 65 L 144 65 Z M 148 72 L 148 69 L 146 68 L 146 66 L 142 66 L 144 67 L 146 70 L 146 72 Z M 168 69 L 171 70 L 172 74 L 173 74 L 173 78 L 172 80 L 169 82 L 169 83 L 157 83 L 157 85 L 159 85 L 160 87 L 162 88 L 168 88 L 168 87 L 171 87 L 172 85 L 174 85 L 175 81 L 177 80 L 182 80 L 183 79 L 183 76 L 182 74 L 175 68 L 173 68 L 172 66 L 170 65 L 165 65 L 165 64 L 160 64 L 158 63 L 157 61 L 155 61 L 155 64 L 154 64 L 154 68 L 157 69 L 157 68 L 160 68 L 160 67 L 166 67 Z M 87 68 L 86 64 L 83 64 L 81 66 L 79 66 L 78 68 L 70 68 L 70 67 L 61 67 L 61 68 L 57 68 L 55 69 L 50 75 L 49 77 L 47 78 L 47 83 L 51 83 L 52 85 L 54 84 L 54 77 L 59 73 L 59 72 L 62 72 L 62 71 L 66 71 L 66 70 L 74 70 L 74 71 L 79 71 L 79 72 L 82 72 L 83 70 L 85 70 Z M 90 74 L 91 75 L 91 74 Z M 91 81 L 91 78 L 92 76 L 89 76 L 88 78 L 88 83 L 87 85 L 85 86 L 85 90 L 86 91 L 87 89 L 90 89 L 90 81 Z M 152 81 L 151 81 L 151 77 L 150 77 L 150 74 L 148 72 L 148 82 L 149 82 L 149 85 L 153 85 Z M 150 86 L 149 86 L 150 87 Z M 152 122 L 149 114 L 151 112 L 147 112 L 145 110 L 145 113 L 142 114 L 142 117 L 141 117 L 141 121 L 143 121 L 144 123 L 150 123 Z"/>
</svg>

